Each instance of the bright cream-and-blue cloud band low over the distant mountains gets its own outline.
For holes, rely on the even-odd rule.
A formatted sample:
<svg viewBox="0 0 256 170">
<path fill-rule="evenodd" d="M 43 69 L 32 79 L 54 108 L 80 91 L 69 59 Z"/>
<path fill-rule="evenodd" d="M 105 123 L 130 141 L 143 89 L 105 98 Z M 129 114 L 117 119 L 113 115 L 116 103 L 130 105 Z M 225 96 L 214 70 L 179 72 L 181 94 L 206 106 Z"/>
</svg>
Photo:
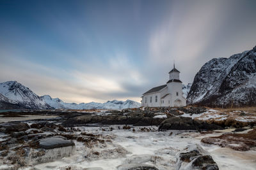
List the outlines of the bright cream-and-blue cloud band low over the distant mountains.
<svg viewBox="0 0 256 170">
<path fill-rule="evenodd" d="M 83 70 L 68 71 L 20 60 L 11 53 L 8 56 L 0 63 L 0 71 L 5 73 L 0 75 L 0 80 L 17 80 L 40 96 L 49 94 L 76 103 L 128 97 L 140 101 L 140 88 L 136 90 L 136 87 L 140 87 L 143 79 L 123 55 L 110 57 L 107 63 L 98 63 L 99 67 L 94 69 L 90 69 L 92 63 L 87 63 L 83 64 Z"/>
</svg>

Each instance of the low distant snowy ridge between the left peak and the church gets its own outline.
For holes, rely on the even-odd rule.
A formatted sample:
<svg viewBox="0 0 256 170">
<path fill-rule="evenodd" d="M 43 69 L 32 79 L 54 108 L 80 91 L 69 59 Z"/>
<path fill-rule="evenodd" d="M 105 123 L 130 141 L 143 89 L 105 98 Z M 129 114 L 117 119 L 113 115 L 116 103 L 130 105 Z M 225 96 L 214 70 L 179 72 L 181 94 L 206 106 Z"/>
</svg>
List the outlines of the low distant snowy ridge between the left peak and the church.
<svg viewBox="0 0 256 170">
<path fill-rule="evenodd" d="M 125 108 L 139 108 L 140 103 L 127 100 L 127 101 L 108 101 L 106 103 L 65 103 L 59 98 L 52 99 L 51 96 L 45 95 L 41 96 L 41 99 L 45 103 L 49 104 L 52 108 L 56 109 L 73 109 L 73 110 L 83 110 L 83 109 L 125 109 Z"/>
</svg>

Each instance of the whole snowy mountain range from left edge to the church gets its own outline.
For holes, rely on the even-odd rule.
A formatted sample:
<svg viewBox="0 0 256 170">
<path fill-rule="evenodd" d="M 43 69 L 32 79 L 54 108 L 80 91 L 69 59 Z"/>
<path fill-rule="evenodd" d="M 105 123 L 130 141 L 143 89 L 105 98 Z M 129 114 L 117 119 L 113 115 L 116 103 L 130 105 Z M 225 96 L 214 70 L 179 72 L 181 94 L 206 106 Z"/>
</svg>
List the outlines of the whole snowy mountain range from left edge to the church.
<svg viewBox="0 0 256 170">
<path fill-rule="evenodd" d="M 108 101 L 106 103 L 65 103 L 51 96 L 37 96 L 32 90 L 17 81 L 0 83 L 0 109 L 124 109 L 138 108 L 140 103 L 127 101 Z"/>
</svg>

